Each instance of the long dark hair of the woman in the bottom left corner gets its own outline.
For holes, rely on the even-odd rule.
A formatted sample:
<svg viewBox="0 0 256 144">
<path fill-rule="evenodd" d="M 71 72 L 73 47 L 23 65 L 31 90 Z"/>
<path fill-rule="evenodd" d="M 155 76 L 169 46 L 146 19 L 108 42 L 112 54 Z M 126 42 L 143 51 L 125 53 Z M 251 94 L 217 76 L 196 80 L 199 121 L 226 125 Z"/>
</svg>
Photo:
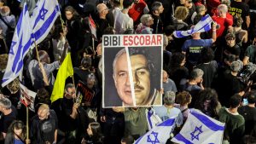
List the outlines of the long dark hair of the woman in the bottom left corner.
<svg viewBox="0 0 256 144">
<path fill-rule="evenodd" d="M 15 141 L 15 129 L 22 130 L 21 135 L 18 135 L 20 141 L 24 142 L 25 134 L 26 134 L 26 127 L 24 126 L 23 122 L 20 120 L 15 120 L 12 124 L 9 125 L 8 131 L 5 136 L 4 144 L 14 144 Z"/>
</svg>

